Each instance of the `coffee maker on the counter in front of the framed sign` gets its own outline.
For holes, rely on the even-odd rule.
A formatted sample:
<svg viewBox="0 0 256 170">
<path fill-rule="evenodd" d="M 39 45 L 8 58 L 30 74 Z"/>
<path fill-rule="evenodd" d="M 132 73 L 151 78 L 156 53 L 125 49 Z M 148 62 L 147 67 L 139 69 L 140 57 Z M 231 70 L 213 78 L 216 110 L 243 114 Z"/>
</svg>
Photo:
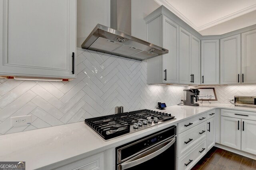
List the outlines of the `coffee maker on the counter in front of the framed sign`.
<svg viewBox="0 0 256 170">
<path fill-rule="evenodd" d="M 184 105 L 199 106 L 199 104 L 196 103 L 199 100 L 198 95 L 200 94 L 198 89 L 184 89 L 183 91 L 186 92 L 186 100 L 183 100 Z"/>
</svg>

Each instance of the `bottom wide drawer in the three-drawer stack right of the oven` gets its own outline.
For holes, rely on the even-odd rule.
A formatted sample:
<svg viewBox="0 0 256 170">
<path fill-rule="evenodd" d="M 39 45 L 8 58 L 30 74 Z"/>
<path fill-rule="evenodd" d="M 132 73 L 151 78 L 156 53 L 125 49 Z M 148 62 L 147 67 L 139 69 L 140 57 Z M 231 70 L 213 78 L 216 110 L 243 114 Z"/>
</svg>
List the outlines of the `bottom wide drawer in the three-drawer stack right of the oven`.
<svg viewBox="0 0 256 170">
<path fill-rule="evenodd" d="M 178 158 L 178 170 L 190 170 L 206 154 L 206 139 Z"/>
</svg>

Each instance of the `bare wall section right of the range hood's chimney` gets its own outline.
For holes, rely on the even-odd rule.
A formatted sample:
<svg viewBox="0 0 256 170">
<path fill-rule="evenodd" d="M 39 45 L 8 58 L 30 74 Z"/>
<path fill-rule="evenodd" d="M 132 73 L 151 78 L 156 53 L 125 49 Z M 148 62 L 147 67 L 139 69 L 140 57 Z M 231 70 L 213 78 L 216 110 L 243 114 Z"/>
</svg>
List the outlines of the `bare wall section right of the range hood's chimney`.
<svg viewBox="0 0 256 170">
<path fill-rule="evenodd" d="M 132 36 L 146 41 L 144 18 L 159 6 L 154 0 L 132 0 Z"/>
</svg>

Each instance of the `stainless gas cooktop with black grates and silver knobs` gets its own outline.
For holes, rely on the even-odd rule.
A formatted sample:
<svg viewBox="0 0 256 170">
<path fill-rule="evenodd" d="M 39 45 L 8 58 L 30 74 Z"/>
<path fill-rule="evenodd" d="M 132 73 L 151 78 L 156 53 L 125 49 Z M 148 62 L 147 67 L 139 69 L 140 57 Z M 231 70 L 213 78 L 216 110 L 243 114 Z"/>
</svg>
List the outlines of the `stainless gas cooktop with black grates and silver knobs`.
<svg viewBox="0 0 256 170">
<path fill-rule="evenodd" d="M 108 140 L 173 119 L 176 118 L 171 114 L 143 109 L 94 117 L 85 119 L 84 122 L 103 139 Z"/>
</svg>

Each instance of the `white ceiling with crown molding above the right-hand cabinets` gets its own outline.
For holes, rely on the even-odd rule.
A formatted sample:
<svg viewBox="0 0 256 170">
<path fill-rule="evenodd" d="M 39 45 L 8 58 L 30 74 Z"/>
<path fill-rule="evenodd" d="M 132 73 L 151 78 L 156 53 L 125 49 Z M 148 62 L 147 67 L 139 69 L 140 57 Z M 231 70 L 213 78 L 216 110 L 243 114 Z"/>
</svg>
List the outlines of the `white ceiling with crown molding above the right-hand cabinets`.
<svg viewBox="0 0 256 170">
<path fill-rule="evenodd" d="M 256 24 L 256 0 L 155 0 L 202 35 Z"/>
</svg>

